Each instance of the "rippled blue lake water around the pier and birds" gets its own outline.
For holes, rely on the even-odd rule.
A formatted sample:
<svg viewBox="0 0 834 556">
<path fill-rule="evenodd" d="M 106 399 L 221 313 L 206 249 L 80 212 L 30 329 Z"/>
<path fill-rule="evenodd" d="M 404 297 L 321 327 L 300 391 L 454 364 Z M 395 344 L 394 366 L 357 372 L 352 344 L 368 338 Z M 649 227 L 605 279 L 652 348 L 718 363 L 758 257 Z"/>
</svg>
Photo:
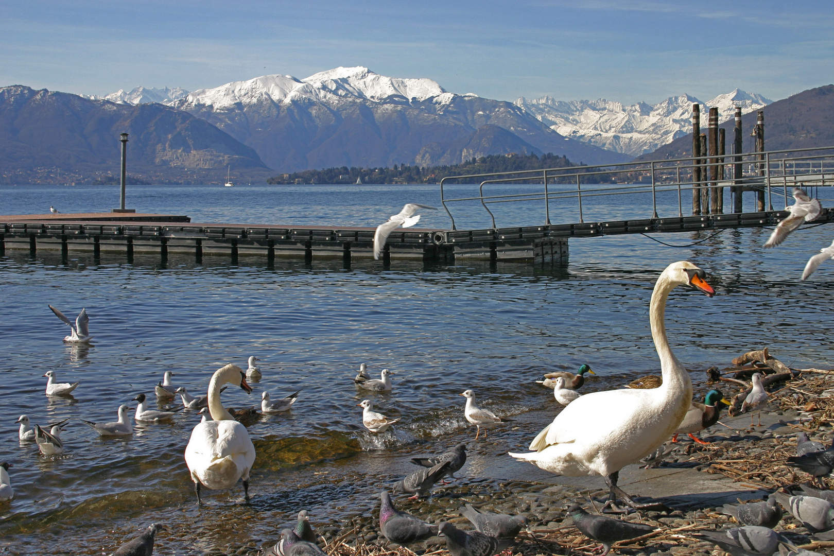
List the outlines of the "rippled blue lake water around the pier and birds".
<svg viewBox="0 0 834 556">
<path fill-rule="evenodd" d="M 473 188 L 460 186 L 461 197 Z M 830 189 L 820 190 L 831 198 Z M 778 203 L 777 203 L 778 201 Z M 193 222 L 375 226 L 404 203 L 440 207 L 436 186 L 132 186 L 128 207 L 188 214 Z M 774 199 L 774 204 L 783 203 Z M 585 221 L 649 218 L 646 198 L 596 198 Z M 829 205 L 830 203 L 824 203 Z M 108 210 L 118 188 L 0 187 L 0 213 Z M 748 204 L 749 206 L 749 204 Z M 497 206 L 496 206 L 497 207 Z M 686 207 L 686 203 L 685 203 Z M 540 204 L 500 205 L 499 226 L 542 223 Z M 574 221 L 573 203 L 551 206 L 554 223 Z M 459 228 L 489 228 L 480 203 L 460 203 Z M 677 213 L 666 195 L 661 216 Z M 648 212 L 648 213 L 647 213 Z M 444 211 L 422 211 L 420 226 L 448 228 Z M 162 521 L 159 553 L 191 554 L 229 543 L 278 538 L 301 508 L 314 523 L 349 511 L 370 513 L 379 488 L 401 478 L 418 454 L 445 450 L 475 436 L 463 418 L 472 388 L 478 402 L 513 417 L 487 442 L 470 443 L 464 475 L 490 475 L 496 454 L 524 448 L 555 414 L 541 373 L 589 363 L 599 378 L 585 391 L 614 388 L 659 368 L 651 343 L 648 303 L 669 263 L 691 260 L 706 270 L 715 298 L 676 290 L 666 313 L 678 358 L 696 371 L 725 366 L 738 353 L 769 346 L 794 367 L 834 367 L 834 263 L 800 282 L 806 260 L 834 238 L 834 227 L 793 234 L 780 248 L 763 249 L 770 230 L 656 234 L 570 240 L 570 263 L 535 268 L 521 263 L 459 263 L 424 267 L 394 260 L 341 264 L 303 260 L 137 255 L 117 256 L 7 250 L 0 258 L 4 298 L 0 320 L 0 460 L 13 463 L 15 498 L 0 503 L 0 552 L 108 553 L 140 527 Z M 87 308 L 95 337 L 90 348 L 65 345 L 68 328 L 47 304 L 74 318 Z M 224 393 L 229 407 L 258 405 L 301 389 L 286 414 L 249 426 L 258 458 L 251 504 L 243 489 L 206 492 L 197 509 L 183 450 L 198 416 L 180 412 L 170 423 L 138 425 L 129 438 L 98 438 L 78 419 L 112 421 L 138 393 L 153 399 L 166 370 L 198 392 L 225 363 L 246 367 L 255 355 L 264 378 L 247 396 Z M 373 396 L 395 430 L 373 435 L 361 427 L 368 397 L 354 387 L 359 363 L 394 374 L 394 391 Z M 47 398 L 43 373 L 80 381 L 73 397 Z M 133 402 L 135 403 L 135 402 Z M 152 402 L 151 406 L 154 407 Z M 131 405 L 135 407 L 135 405 Z M 45 458 L 19 442 L 15 421 L 72 418 L 66 452 Z"/>
</svg>

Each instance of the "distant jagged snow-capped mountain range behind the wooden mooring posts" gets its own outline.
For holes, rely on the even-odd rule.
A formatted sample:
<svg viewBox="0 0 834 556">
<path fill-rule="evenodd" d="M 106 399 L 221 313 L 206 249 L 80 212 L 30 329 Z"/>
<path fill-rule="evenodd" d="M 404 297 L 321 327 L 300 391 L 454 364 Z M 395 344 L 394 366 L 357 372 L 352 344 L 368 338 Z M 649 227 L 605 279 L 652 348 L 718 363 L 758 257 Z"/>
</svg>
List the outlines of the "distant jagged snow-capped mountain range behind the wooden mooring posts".
<svg viewBox="0 0 834 556">
<path fill-rule="evenodd" d="M 701 127 L 707 125 L 709 108 L 718 108 L 719 123 L 733 118 L 736 105 L 742 113 L 760 110 L 772 103 L 756 93 L 736 88 L 706 103 L 688 94 L 666 98 L 662 103 L 622 103 L 600 98 L 595 101 L 558 101 L 552 97 L 519 98 L 515 105 L 567 138 L 591 143 L 617 153 L 639 156 L 690 133 L 692 104 L 701 104 Z"/>
</svg>

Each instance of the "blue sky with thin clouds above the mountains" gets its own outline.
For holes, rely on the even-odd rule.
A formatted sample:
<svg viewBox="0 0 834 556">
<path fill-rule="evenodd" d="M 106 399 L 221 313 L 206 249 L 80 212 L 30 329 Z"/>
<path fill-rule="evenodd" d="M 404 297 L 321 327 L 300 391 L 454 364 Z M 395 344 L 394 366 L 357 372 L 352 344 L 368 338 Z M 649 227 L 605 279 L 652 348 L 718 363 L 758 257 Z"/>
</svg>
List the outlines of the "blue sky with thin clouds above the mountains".
<svg viewBox="0 0 834 556">
<path fill-rule="evenodd" d="M 365 66 L 515 100 L 786 98 L 834 82 L 830 2 L 0 0 L 0 87 L 213 88 Z"/>
</svg>

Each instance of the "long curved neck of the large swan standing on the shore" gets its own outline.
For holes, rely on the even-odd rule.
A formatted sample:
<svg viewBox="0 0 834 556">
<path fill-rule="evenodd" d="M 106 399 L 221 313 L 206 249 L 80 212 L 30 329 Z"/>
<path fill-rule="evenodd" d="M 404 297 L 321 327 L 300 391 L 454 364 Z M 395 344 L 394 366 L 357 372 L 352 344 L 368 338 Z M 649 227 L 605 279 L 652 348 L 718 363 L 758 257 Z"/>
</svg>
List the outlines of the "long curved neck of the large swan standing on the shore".
<svg viewBox="0 0 834 556">
<path fill-rule="evenodd" d="M 666 338 L 666 300 L 675 286 L 676 283 L 673 283 L 666 273 L 661 274 L 661 277 L 657 279 L 655 290 L 651 294 L 649 322 L 651 323 L 651 338 L 655 342 L 657 355 L 661 358 L 663 384 L 660 388 L 666 392 L 666 398 L 681 395 L 682 392 L 688 403 L 692 398 L 692 382 L 689 373 L 686 373 L 686 368 L 672 353 L 669 339 Z"/>
</svg>

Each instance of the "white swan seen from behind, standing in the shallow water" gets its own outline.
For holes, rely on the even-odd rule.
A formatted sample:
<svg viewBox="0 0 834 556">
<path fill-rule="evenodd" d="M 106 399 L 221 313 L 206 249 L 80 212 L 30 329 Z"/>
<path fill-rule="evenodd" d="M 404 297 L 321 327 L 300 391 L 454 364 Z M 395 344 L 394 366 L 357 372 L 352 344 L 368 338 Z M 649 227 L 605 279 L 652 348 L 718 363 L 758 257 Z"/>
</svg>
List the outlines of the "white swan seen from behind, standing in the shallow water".
<svg viewBox="0 0 834 556">
<path fill-rule="evenodd" d="M 198 423 L 185 447 L 185 463 L 191 472 L 197 504 L 201 504 L 200 486 L 219 490 L 231 488 L 244 479 L 244 498 L 249 502 L 249 469 L 255 461 L 255 447 L 244 425 L 234 420 L 220 403 L 220 387 L 231 383 L 252 393 L 246 373 L 229 363 L 219 368 L 208 383 L 208 413 L 211 421 Z"/>
</svg>

